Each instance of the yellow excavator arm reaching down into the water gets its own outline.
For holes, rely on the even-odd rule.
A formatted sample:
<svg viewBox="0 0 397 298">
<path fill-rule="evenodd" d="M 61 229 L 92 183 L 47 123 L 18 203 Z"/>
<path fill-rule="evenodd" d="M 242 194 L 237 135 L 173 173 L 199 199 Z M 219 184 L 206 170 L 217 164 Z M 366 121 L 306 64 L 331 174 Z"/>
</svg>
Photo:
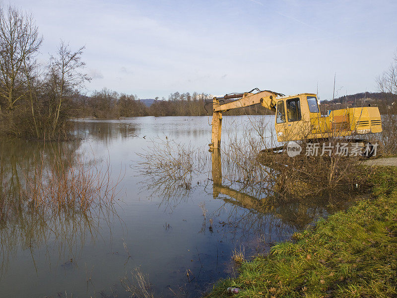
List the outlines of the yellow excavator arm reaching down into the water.
<svg viewBox="0 0 397 298">
<path fill-rule="evenodd" d="M 253 93 L 257 90 L 258 92 Z M 212 114 L 212 137 L 211 144 L 209 144 L 210 151 L 218 149 L 220 147 L 220 137 L 222 130 L 222 111 L 228 111 L 231 109 L 249 107 L 254 104 L 261 104 L 266 109 L 273 112 L 276 111 L 276 98 L 278 96 L 284 96 L 284 94 L 265 90 L 261 91 L 258 88 L 253 89 L 250 92 L 245 93 L 234 93 L 226 94 L 222 97 L 213 98 L 213 114 Z M 238 98 L 235 101 L 220 104 L 220 101 Z"/>
</svg>

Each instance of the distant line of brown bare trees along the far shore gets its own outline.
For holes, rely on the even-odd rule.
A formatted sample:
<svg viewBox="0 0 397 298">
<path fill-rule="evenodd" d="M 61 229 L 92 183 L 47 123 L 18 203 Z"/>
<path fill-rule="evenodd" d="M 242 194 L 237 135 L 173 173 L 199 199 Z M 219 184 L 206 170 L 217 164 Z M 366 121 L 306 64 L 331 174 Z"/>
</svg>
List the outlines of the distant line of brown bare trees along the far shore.
<svg viewBox="0 0 397 298">
<path fill-rule="evenodd" d="M 232 100 L 229 100 L 232 101 Z M 345 107 L 377 106 L 382 114 L 388 112 L 388 107 L 396 101 L 396 95 L 391 92 L 361 92 L 341 96 L 333 100 L 324 100 L 320 109 L 326 114 L 327 109 L 342 109 Z M 94 91 L 91 96 L 79 95 L 74 99 L 74 118 L 93 117 L 98 119 L 118 119 L 140 116 L 207 116 L 212 115 L 212 95 L 208 93 L 174 92 L 168 99 L 156 97 L 150 106 L 146 106 L 137 95 L 118 93 L 103 88 Z M 392 106 L 393 108 L 394 105 Z M 250 107 L 232 109 L 223 112 L 224 115 L 272 115 L 274 112 L 260 104 Z"/>
</svg>

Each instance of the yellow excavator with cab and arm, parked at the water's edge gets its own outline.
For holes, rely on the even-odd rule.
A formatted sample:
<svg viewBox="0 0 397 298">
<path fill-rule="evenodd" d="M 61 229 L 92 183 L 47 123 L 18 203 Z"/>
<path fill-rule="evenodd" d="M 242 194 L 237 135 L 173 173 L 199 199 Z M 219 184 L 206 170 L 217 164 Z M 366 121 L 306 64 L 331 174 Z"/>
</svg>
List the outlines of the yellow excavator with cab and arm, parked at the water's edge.
<svg viewBox="0 0 397 298">
<path fill-rule="evenodd" d="M 220 101 L 228 99 L 236 100 L 220 104 Z M 226 94 L 213 98 L 210 151 L 220 148 L 222 111 L 259 103 L 276 113 L 275 130 L 278 142 L 350 136 L 352 142 L 361 142 L 362 146 L 365 146 L 368 142 L 356 138 L 358 135 L 382 132 L 381 115 L 377 107 L 345 108 L 330 111 L 327 116 L 322 116 L 315 94 L 301 93 L 284 96 L 281 93 L 261 91 L 257 88 L 246 93 Z M 279 149 L 283 147 L 274 150 Z"/>
</svg>

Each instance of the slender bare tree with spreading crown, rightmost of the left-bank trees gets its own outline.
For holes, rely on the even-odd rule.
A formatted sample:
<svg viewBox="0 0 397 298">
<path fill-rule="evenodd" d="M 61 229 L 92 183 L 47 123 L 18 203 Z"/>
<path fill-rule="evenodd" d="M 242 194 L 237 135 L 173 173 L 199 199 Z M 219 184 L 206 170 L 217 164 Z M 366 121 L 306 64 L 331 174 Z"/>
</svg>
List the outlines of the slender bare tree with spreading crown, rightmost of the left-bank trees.
<svg viewBox="0 0 397 298">
<path fill-rule="evenodd" d="M 55 136 L 59 125 L 65 95 L 81 87 L 84 81 L 91 80 L 87 74 L 83 73 L 85 63 L 81 60 L 81 55 L 84 49 L 83 46 L 73 52 L 69 45 L 61 40 L 57 55 L 51 56 L 48 75 L 56 101 L 51 138 Z"/>
</svg>

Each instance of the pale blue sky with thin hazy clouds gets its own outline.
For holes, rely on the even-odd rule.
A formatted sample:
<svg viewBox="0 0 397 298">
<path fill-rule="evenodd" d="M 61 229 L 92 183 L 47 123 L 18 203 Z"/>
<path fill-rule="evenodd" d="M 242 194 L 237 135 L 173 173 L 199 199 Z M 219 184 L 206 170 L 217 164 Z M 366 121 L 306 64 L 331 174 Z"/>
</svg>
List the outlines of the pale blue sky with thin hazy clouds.
<svg viewBox="0 0 397 298">
<path fill-rule="evenodd" d="M 92 80 L 139 98 L 222 95 L 253 88 L 317 93 L 377 91 L 397 50 L 397 1 L 11 0 L 34 15 L 48 62 L 60 40 Z"/>
</svg>

